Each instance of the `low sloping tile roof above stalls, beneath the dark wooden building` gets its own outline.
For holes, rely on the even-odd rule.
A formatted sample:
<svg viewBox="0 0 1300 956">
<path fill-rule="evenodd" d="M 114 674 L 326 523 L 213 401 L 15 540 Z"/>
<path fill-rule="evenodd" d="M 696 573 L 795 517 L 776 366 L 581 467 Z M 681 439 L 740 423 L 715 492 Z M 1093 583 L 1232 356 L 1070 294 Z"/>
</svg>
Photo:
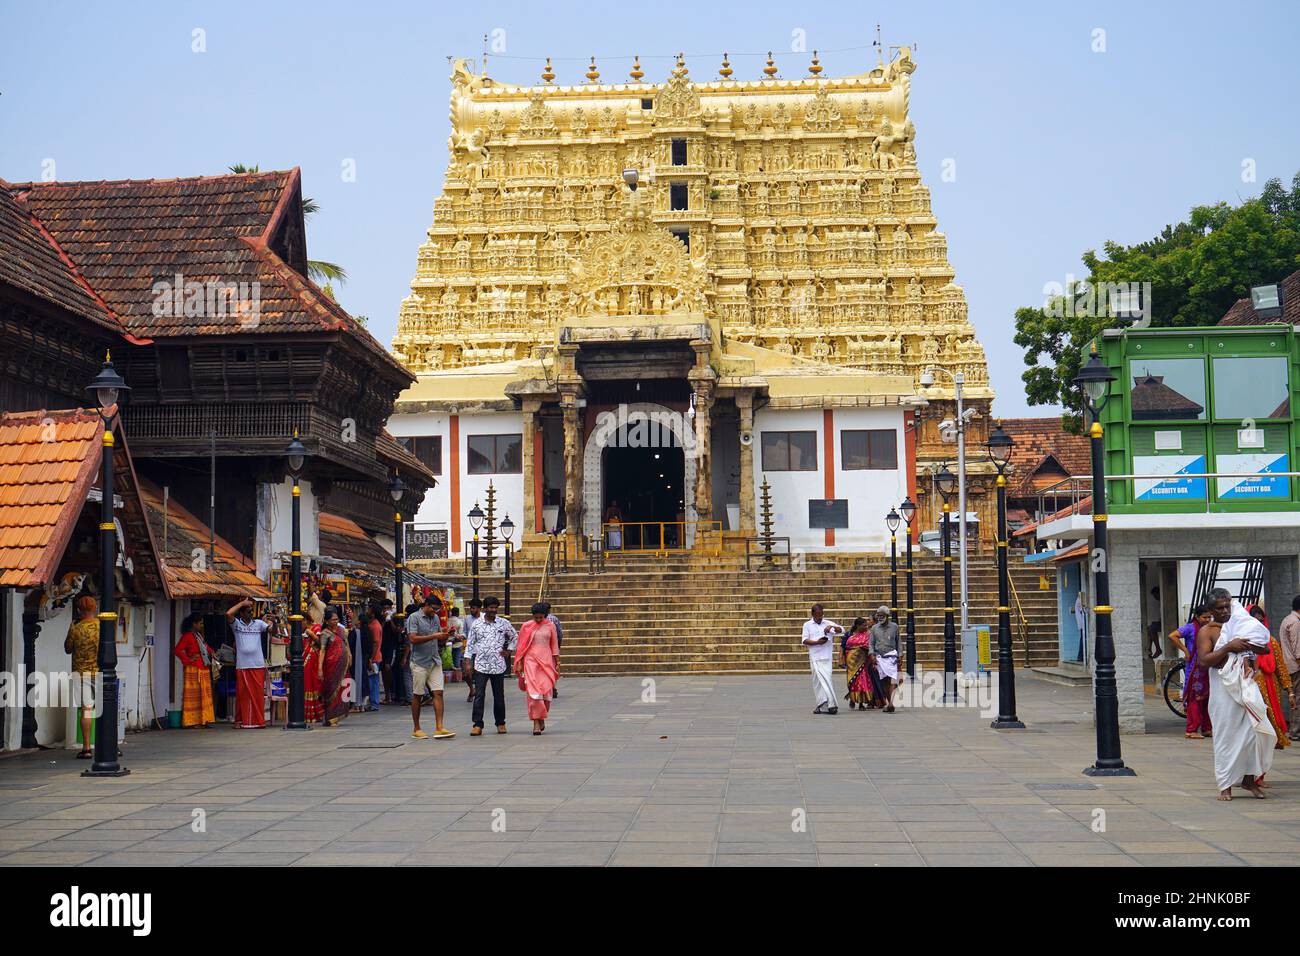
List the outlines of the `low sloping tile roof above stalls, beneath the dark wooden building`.
<svg viewBox="0 0 1300 956">
<path fill-rule="evenodd" d="M 252 562 L 230 542 L 216 538 L 216 559 L 208 567 L 208 525 L 176 498 L 169 498 L 164 510 L 162 489 L 152 481 L 140 477 L 139 489 L 168 597 L 270 597 Z M 195 570 L 196 551 L 202 553 L 199 570 Z"/>
</svg>

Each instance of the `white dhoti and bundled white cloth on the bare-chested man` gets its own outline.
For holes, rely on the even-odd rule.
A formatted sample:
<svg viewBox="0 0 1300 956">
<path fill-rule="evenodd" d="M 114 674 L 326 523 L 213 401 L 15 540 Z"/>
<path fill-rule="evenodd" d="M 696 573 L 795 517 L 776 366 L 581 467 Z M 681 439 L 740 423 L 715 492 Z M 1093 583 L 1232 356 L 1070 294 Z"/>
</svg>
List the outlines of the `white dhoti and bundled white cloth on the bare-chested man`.
<svg viewBox="0 0 1300 956">
<path fill-rule="evenodd" d="M 1268 646 L 1268 631 L 1234 601 L 1232 618 L 1214 646 L 1218 649 L 1236 637 L 1260 644 L 1261 650 Z M 1264 695 L 1244 670 L 1245 654 L 1228 654 L 1222 667 L 1209 669 L 1214 782 L 1221 791 L 1239 786 L 1245 777 L 1258 778 L 1268 773 L 1278 743 Z"/>
</svg>

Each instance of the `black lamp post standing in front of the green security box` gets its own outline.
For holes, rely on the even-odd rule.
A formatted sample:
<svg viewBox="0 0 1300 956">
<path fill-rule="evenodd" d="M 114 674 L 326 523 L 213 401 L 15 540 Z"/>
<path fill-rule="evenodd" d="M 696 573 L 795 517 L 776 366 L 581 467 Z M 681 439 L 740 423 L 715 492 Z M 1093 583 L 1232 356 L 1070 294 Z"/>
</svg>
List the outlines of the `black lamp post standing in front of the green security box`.
<svg viewBox="0 0 1300 956">
<path fill-rule="evenodd" d="M 1092 656 L 1096 665 L 1093 687 L 1097 710 L 1097 762 L 1083 773 L 1089 777 L 1132 777 L 1119 754 L 1119 695 L 1115 689 L 1115 640 L 1110 632 L 1110 579 L 1106 571 L 1106 463 L 1101 444 L 1101 410 L 1110 397 L 1114 372 L 1097 356 L 1096 350 L 1087 364 L 1074 377 L 1083 390 L 1092 427 L 1088 438 L 1092 445 L 1092 563 L 1096 592 L 1096 646 Z"/>
</svg>

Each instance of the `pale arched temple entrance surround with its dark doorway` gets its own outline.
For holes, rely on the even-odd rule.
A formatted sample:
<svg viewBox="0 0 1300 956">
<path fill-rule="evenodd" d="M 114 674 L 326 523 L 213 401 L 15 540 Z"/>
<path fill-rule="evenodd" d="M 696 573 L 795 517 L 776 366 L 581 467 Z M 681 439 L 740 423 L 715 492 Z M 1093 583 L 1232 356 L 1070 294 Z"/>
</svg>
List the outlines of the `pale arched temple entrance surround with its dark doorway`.
<svg viewBox="0 0 1300 956">
<path fill-rule="evenodd" d="M 629 510 L 632 502 L 619 498 L 625 522 L 671 522 L 679 514 L 684 520 L 696 520 L 696 457 L 690 454 L 694 434 L 688 429 L 681 412 L 653 402 L 597 415 L 582 455 L 582 532 L 598 537 L 611 497 L 628 493 L 640 496 L 636 507 L 654 516 L 640 516 Z"/>
</svg>

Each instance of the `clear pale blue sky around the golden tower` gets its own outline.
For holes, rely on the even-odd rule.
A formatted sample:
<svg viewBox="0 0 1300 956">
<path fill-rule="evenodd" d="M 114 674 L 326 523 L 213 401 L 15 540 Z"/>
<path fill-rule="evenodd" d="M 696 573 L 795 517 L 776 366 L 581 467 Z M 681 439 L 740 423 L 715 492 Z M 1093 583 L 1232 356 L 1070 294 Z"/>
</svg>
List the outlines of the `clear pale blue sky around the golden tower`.
<svg viewBox="0 0 1300 956">
<path fill-rule="evenodd" d="M 629 13 L 620 21 L 619 12 Z M 490 73 L 581 82 L 597 55 L 649 78 L 677 51 L 693 77 L 729 51 L 757 77 L 772 49 L 788 75 L 793 31 L 827 75 L 887 44 L 918 64 L 911 107 L 922 176 L 957 281 L 988 351 L 997 411 L 1026 414 L 1013 312 L 1045 282 L 1084 272 L 1106 239 L 1153 237 L 1193 204 L 1236 202 L 1300 169 L 1300 8 L 1223 3 L 86 3 L 0 0 L 0 177 L 214 174 L 231 163 L 302 166 L 321 204 L 308 251 L 351 273 L 342 303 L 389 342 L 447 151 L 448 55 Z M 205 31 L 207 52 L 191 51 Z M 1105 52 L 1093 52 L 1093 31 Z M 498 34 L 499 36 L 500 34 Z M 836 52 L 841 51 L 841 52 Z M 620 59 L 621 57 L 621 59 Z M 341 176 L 355 160 L 356 181 Z M 957 178 L 942 182 L 945 159 Z M 1243 182 L 1243 160 L 1257 181 Z M 1044 414 L 1039 408 L 1030 414 Z"/>
</svg>

